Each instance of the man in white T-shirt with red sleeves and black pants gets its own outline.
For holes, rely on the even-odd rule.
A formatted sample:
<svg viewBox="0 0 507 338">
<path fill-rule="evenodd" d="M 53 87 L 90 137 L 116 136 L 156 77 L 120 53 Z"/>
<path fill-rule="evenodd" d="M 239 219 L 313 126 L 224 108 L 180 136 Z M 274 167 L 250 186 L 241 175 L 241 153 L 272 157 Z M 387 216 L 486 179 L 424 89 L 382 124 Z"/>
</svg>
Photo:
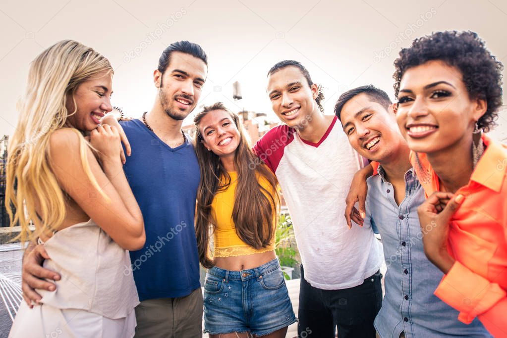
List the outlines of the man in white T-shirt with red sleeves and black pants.
<svg viewBox="0 0 507 338">
<path fill-rule="evenodd" d="M 275 173 L 294 222 L 302 259 L 298 332 L 319 338 L 375 337 L 382 302 L 382 250 L 371 227 L 347 227 L 345 193 L 364 165 L 301 63 L 268 73 L 273 111 L 284 123 L 254 147 Z M 304 333 L 306 332 L 306 333 Z"/>
</svg>

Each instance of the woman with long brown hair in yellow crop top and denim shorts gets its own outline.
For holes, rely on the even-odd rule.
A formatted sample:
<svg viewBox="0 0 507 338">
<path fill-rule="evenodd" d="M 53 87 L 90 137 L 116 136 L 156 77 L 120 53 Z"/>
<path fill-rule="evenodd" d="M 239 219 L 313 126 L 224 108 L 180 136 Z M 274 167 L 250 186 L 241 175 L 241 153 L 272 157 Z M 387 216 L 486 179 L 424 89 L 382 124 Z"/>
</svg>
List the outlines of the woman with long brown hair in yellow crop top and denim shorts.
<svg viewBox="0 0 507 338">
<path fill-rule="evenodd" d="M 204 331 L 211 338 L 284 337 L 296 318 L 274 250 L 277 180 L 256 160 L 238 115 L 222 103 L 204 107 L 194 123 L 201 166 L 196 237 L 209 269 Z"/>
</svg>

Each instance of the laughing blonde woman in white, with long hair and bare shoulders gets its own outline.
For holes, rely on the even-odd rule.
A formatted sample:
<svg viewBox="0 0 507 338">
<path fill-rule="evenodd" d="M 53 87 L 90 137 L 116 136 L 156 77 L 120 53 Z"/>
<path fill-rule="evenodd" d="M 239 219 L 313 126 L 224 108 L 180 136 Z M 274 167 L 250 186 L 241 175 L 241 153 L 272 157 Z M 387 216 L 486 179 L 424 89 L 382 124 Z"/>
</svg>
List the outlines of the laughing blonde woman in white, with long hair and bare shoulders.
<svg viewBox="0 0 507 338">
<path fill-rule="evenodd" d="M 21 239 L 44 243 L 44 268 L 61 279 L 54 291 L 37 290 L 38 304 L 21 304 L 10 337 L 133 336 L 139 301 L 124 267 L 126 250 L 142 247 L 145 234 L 119 133 L 99 122 L 112 110 L 112 75 L 106 58 L 73 40 L 31 63 L 9 148 L 6 205 Z"/>
</svg>

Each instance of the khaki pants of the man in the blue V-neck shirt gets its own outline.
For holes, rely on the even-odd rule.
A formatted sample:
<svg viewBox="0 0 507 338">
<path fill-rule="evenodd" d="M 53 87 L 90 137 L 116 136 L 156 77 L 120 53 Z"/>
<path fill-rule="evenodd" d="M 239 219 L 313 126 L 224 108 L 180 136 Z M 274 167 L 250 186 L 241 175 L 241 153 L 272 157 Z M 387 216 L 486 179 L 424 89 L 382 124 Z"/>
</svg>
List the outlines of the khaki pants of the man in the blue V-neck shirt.
<svg viewBox="0 0 507 338">
<path fill-rule="evenodd" d="M 178 298 L 142 301 L 135 308 L 136 338 L 201 338 L 202 291 Z"/>
</svg>

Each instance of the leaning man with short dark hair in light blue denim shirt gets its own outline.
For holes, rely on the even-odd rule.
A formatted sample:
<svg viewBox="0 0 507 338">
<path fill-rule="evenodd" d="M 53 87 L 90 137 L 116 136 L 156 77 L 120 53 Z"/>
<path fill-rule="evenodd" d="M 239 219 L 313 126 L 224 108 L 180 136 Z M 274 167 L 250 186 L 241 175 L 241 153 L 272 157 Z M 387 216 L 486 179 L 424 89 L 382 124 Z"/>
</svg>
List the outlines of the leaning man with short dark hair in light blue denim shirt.
<svg viewBox="0 0 507 338">
<path fill-rule="evenodd" d="M 335 106 L 352 147 L 379 163 L 378 175 L 367 180 L 361 223 L 379 230 L 387 265 L 385 298 L 375 328 L 381 337 L 490 336 L 478 319 L 461 323 L 458 312 L 433 294 L 443 273 L 424 255 L 417 215 L 424 190 L 414 176 L 395 108 L 384 91 L 371 85 L 343 93 Z"/>
</svg>

